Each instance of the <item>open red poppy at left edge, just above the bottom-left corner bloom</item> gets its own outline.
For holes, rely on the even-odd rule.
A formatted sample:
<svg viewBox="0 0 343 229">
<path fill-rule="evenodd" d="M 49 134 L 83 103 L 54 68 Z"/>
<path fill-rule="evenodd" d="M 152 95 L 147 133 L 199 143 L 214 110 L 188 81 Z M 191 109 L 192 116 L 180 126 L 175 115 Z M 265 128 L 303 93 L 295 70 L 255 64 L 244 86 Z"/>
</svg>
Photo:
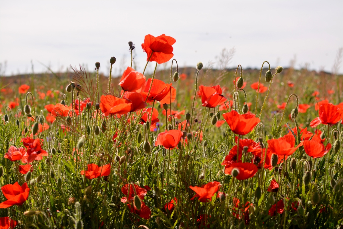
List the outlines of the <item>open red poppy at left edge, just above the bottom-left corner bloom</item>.
<svg viewBox="0 0 343 229">
<path fill-rule="evenodd" d="M 25 182 L 22 186 L 15 182 L 14 184 L 7 184 L 1 187 L 2 194 L 7 198 L 7 201 L 0 203 L 0 208 L 8 208 L 13 205 L 22 205 L 28 197 L 30 188 Z"/>
</svg>

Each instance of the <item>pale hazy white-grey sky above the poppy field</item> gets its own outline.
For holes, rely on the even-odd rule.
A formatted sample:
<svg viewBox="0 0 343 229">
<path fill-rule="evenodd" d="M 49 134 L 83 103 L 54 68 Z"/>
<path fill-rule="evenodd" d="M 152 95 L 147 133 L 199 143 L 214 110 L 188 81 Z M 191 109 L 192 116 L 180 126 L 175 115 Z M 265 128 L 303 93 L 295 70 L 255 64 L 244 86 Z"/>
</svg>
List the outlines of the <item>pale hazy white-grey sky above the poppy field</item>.
<svg viewBox="0 0 343 229">
<path fill-rule="evenodd" d="M 31 72 L 31 60 L 35 72 L 46 70 L 39 62 L 57 71 L 79 63 L 94 69 L 99 61 L 107 73 L 111 56 L 121 74 L 120 67 L 129 65 L 129 41 L 137 47 L 137 70 L 142 71 L 146 34 L 174 37 L 174 58 L 181 67 L 216 63 L 223 48 L 235 47 L 229 67 L 260 68 L 264 60 L 287 67 L 296 57 L 296 68 L 331 71 L 343 47 L 342 0 L 0 3 L 0 63 L 7 61 L 6 75 Z"/>
</svg>

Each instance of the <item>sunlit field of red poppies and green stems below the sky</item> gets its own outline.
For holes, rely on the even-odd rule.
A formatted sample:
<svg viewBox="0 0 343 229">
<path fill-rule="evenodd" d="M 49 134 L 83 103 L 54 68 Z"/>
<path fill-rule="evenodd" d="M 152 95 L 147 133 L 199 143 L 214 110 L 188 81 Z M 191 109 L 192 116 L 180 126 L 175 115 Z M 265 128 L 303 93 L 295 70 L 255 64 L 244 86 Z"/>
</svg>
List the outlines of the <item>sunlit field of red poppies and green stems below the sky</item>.
<svg viewBox="0 0 343 229">
<path fill-rule="evenodd" d="M 343 228 L 340 76 L 181 69 L 175 42 L 1 78 L 0 228 Z"/>
</svg>

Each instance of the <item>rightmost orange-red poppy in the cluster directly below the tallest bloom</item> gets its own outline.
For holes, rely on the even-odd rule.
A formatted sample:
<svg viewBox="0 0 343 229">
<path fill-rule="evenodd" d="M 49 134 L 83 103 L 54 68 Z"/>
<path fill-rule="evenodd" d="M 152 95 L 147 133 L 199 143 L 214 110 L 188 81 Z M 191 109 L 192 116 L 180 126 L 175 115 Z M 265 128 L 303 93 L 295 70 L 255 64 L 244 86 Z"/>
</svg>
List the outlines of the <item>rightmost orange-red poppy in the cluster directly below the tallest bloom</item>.
<svg viewBox="0 0 343 229">
<path fill-rule="evenodd" d="M 153 102 L 154 100 L 161 102 L 162 104 L 169 104 L 170 103 L 170 91 L 171 91 L 171 102 L 174 102 L 176 98 L 176 89 L 171 87 L 171 83 L 165 83 L 162 80 L 154 79 L 151 85 L 152 78 L 148 79 L 145 82 L 145 89 L 141 94 L 143 98 L 146 99 L 148 103 Z M 149 88 L 151 85 L 150 93 Z M 149 96 L 148 96 L 149 93 Z"/>
</svg>

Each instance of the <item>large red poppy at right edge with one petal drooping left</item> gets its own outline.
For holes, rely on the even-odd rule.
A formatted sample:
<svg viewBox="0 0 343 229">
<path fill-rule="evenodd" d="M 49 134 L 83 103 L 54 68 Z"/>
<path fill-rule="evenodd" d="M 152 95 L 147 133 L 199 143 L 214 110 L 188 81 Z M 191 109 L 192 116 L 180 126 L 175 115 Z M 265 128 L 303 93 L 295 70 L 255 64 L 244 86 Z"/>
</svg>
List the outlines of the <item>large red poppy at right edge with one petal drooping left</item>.
<svg viewBox="0 0 343 229">
<path fill-rule="evenodd" d="M 324 103 L 319 106 L 319 117 L 312 120 L 310 126 L 315 128 L 319 124 L 335 125 L 343 117 L 342 110 L 331 103 Z"/>
</svg>

